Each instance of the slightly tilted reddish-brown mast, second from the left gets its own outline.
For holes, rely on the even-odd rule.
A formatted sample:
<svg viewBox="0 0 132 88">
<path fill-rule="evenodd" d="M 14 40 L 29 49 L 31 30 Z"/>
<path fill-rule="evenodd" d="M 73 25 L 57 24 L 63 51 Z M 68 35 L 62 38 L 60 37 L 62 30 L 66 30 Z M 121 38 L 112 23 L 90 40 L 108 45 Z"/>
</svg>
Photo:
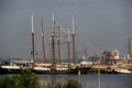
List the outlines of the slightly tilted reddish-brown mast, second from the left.
<svg viewBox="0 0 132 88">
<path fill-rule="evenodd" d="M 42 51 L 43 51 L 43 59 L 44 59 L 44 63 L 46 63 L 45 45 L 44 45 L 43 19 L 41 19 L 41 24 L 42 24 Z"/>
</svg>

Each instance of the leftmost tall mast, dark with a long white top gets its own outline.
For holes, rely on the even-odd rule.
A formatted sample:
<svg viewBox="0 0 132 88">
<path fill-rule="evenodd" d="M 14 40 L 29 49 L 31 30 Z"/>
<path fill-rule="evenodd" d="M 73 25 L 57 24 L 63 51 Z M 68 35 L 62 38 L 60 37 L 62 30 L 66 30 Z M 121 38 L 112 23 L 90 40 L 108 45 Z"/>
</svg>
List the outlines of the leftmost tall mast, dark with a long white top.
<svg viewBox="0 0 132 88">
<path fill-rule="evenodd" d="M 32 55 L 32 61 L 35 62 L 35 52 L 34 52 L 34 26 L 33 26 L 33 14 L 31 14 L 31 22 L 32 22 L 32 52 L 31 52 L 31 55 Z"/>
</svg>

